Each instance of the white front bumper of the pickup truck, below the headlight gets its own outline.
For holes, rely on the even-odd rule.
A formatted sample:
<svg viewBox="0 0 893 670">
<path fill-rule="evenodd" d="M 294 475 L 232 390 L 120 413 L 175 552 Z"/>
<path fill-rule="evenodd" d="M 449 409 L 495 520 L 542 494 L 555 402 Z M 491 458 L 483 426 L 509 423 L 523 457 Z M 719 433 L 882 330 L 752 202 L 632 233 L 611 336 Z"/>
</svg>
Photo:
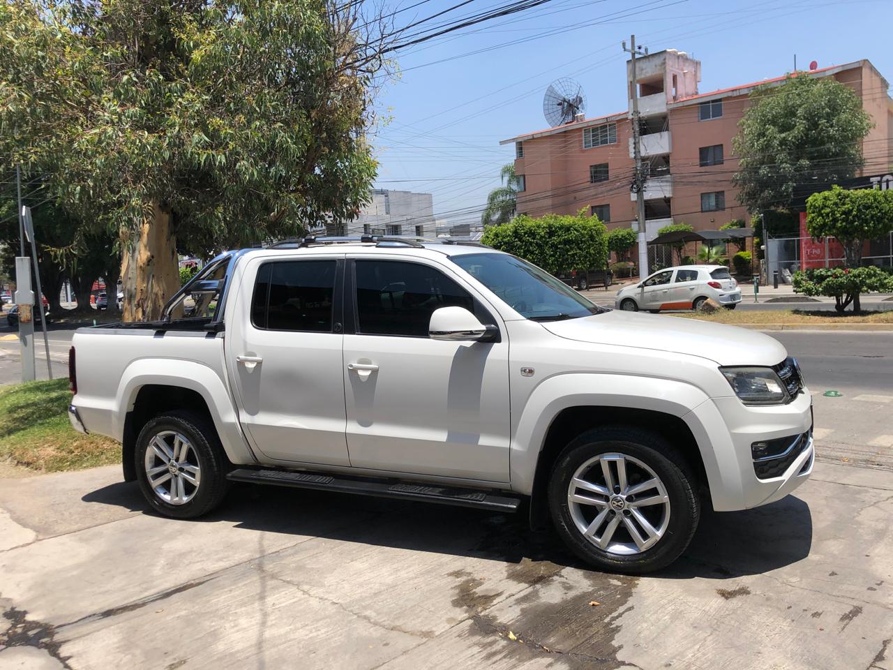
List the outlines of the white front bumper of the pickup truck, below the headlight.
<svg viewBox="0 0 893 670">
<path fill-rule="evenodd" d="M 787 405 L 747 406 L 739 398 L 713 398 L 685 417 L 703 456 L 714 510 L 728 512 L 775 502 L 809 478 L 815 448 L 812 396 L 804 389 Z M 780 462 L 772 475 L 755 472 L 751 445 L 805 434 L 797 456 Z M 782 471 L 783 468 L 783 471 Z"/>
</svg>

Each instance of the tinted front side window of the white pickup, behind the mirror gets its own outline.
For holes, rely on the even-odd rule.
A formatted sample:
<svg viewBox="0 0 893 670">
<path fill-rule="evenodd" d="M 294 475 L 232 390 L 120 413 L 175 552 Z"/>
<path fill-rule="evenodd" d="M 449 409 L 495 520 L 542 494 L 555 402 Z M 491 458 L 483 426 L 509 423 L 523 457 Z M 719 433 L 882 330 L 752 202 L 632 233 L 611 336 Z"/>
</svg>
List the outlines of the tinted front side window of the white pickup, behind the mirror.
<svg viewBox="0 0 893 670">
<path fill-rule="evenodd" d="M 474 300 L 455 281 L 428 265 L 356 261 L 357 331 L 366 335 L 427 338 L 440 307 L 474 311 Z"/>
</svg>

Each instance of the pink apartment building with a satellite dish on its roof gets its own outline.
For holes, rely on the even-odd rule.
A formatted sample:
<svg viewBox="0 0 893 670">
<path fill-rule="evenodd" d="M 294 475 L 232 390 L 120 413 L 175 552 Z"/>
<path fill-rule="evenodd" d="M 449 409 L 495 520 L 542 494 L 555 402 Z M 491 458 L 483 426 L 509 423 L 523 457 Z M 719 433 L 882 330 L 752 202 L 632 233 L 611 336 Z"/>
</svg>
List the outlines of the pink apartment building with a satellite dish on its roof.
<svg viewBox="0 0 893 670">
<path fill-rule="evenodd" d="M 522 176 L 520 214 L 574 214 L 585 208 L 609 229 L 636 219 L 633 180 L 632 96 L 638 95 L 645 186 L 646 235 L 672 222 L 695 230 L 716 230 L 732 219 L 747 221 L 731 177 L 738 169 L 731 139 L 757 86 L 785 77 L 700 93 L 701 63 L 668 49 L 636 59 L 629 109 L 595 119 L 525 133 L 500 144 L 515 146 L 515 172 Z M 893 100 L 888 83 L 867 60 L 835 65 L 798 76 L 834 77 L 853 88 L 874 127 L 864 139 L 862 174 L 889 172 L 893 156 Z M 630 62 L 627 61 L 630 80 Z"/>
</svg>

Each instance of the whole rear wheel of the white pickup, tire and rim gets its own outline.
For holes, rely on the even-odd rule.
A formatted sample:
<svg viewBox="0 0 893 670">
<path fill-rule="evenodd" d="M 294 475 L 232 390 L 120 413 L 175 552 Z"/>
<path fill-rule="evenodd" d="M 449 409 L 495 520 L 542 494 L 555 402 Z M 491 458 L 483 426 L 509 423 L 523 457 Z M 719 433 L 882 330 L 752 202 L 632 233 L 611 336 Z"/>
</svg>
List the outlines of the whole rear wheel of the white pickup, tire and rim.
<svg viewBox="0 0 893 670">
<path fill-rule="evenodd" d="M 226 495 L 226 456 L 202 416 L 177 411 L 151 419 L 139 432 L 135 458 L 139 488 L 160 514 L 201 516 Z"/>
</svg>

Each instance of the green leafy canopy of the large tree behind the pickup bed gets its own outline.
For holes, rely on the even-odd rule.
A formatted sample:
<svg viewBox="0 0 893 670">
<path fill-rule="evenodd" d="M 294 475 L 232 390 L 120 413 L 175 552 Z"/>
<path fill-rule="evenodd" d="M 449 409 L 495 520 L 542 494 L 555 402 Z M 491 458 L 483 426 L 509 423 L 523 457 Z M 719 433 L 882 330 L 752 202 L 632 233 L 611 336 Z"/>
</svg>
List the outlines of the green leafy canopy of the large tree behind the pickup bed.
<svg viewBox="0 0 893 670">
<path fill-rule="evenodd" d="M 199 254 L 351 218 L 376 172 L 364 135 L 383 63 L 358 11 L 11 0 L 0 154 L 115 239 L 153 203 Z"/>
</svg>

